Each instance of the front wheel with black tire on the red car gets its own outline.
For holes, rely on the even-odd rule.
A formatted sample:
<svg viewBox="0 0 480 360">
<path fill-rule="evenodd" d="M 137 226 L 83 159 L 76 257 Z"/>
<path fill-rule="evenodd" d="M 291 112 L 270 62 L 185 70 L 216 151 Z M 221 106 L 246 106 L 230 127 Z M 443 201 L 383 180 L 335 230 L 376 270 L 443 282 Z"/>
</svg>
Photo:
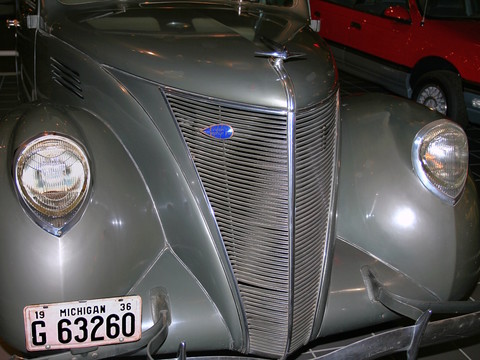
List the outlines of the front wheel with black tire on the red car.
<svg viewBox="0 0 480 360">
<path fill-rule="evenodd" d="M 448 116 L 463 128 L 468 125 L 462 78 L 452 71 L 439 70 L 422 75 L 414 86 L 412 99 Z"/>
</svg>

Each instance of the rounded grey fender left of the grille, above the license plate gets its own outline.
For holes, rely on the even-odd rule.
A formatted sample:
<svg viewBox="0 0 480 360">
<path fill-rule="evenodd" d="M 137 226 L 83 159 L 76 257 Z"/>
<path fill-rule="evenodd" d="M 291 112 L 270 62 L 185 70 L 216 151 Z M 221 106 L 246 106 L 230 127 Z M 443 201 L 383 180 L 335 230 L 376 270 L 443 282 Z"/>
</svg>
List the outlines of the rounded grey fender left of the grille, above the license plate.
<svg viewBox="0 0 480 360">
<path fill-rule="evenodd" d="M 15 150 L 45 132 L 67 135 L 91 155 L 93 190 L 81 219 L 61 237 L 32 220 L 12 179 Z M 134 164 L 91 114 L 25 106 L 2 121 L 0 134 L 0 332 L 23 349 L 24 306 L 126 294 L 165 239 Z"/>
</svg>

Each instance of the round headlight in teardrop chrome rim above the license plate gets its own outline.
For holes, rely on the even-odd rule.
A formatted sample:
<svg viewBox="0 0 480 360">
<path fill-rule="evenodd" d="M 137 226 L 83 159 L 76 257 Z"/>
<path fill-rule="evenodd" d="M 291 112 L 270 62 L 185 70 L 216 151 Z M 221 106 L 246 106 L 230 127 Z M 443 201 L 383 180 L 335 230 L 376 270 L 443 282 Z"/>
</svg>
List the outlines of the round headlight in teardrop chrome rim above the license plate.
<svg viewBox="0 0 480 360">
<path fill-rule="evenodd" d="M 15 159 L 15 185 L 21 199 L 36 222 L 61 235 L 90 187 L 86 152 L 65 136 L 48 134 L 27 142 Z"/>
</svg>

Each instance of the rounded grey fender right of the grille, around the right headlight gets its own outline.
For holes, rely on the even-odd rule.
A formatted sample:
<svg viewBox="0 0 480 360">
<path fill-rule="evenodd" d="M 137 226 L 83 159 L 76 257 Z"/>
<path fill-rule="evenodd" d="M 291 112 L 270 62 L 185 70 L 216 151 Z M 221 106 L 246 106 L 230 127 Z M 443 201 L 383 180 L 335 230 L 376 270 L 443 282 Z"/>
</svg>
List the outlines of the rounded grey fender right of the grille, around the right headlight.
<svg viewBox="0 0 480 360">
<path fill-rule="evenodd" d="M 416 133 L 439 117 L 391 96 L 345 101 L 336 231 L 440 299 L 459 299 L 479 274 L 475 185 L 469 179 L 448 205 L 422 185 L 411 161 Z"/>
</svg>

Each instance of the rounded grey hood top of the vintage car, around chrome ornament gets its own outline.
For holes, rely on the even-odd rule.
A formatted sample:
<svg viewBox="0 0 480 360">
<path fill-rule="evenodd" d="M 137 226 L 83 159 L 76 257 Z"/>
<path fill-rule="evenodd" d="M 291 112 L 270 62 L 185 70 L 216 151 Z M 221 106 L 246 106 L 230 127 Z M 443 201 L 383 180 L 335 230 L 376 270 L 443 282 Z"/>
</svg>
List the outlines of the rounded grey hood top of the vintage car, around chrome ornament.
<svg viewBox="0 0 480 360">
<path fill-rule="evenodd" d="M 304 19 L 269 8 L 221 3 L 77 8 L 50 29 L 106 67 L 207 96 L 285 108 L 278 73 L 268 57 L 258 55 L 269 50 L 267 42 L 277 43 L 303 53 L 285 62 L 297 104 L 324 99 L 337 81 L 330 51 Z"/>
</svg>

